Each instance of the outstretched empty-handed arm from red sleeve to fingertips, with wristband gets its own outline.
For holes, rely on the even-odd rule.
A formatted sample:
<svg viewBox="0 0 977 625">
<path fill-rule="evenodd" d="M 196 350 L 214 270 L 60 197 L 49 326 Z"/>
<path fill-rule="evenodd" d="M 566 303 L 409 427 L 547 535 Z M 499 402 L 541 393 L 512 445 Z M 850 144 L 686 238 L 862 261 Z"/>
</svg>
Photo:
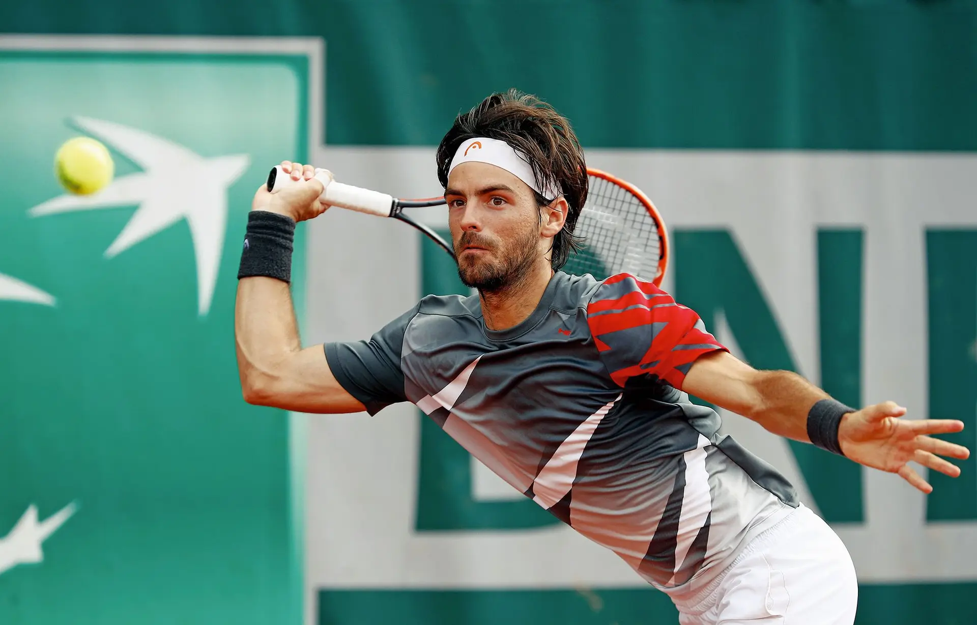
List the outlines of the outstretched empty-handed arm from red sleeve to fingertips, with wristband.
<svg viewBox="0 0 977 625">
<path fill-rule="evenodd" d="M 757 371 L 725 351 L 701 355 L 681 380 L 681 390 L 756 421 L 795 441 L 813 443 L 860 464 L 896 473 L 913 487 L 932 487 L 910 461 L 957 477 L 960 469 L 939 457 L 965 459 L 968 449 L 932 438 L 963 429 L 954 419 L 902 419 L 894 402 L 850 409 L 791 371 Z"/>
</svg>

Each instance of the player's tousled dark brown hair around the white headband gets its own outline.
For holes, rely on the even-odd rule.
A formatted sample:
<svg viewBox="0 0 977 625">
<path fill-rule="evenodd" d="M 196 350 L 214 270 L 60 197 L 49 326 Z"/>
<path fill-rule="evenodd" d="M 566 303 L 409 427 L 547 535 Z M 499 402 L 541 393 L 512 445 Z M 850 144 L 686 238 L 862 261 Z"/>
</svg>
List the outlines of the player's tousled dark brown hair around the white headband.
<svg viewBox="0 0 977 625">
<path fill-rule="evenodd" d="M 470 111 L 460 113 L 441 140 L 436 159 L 443 187 L 447 186 L 447 170 L 458 146 L 474 137 L 505 141 L 526 158 L 541 184 L 559 185 L 570 211 L 563 230 L 553 237 L 551 264 L 553 269 L 563 267 L 571 251 L 580 248 L 573 228 L 587 200 L 587 166 L 570 121 L 546 102 L 515 89 L 492 94 Z M 540 207 L 554 199 L 533 194 Z"/>
</svg>

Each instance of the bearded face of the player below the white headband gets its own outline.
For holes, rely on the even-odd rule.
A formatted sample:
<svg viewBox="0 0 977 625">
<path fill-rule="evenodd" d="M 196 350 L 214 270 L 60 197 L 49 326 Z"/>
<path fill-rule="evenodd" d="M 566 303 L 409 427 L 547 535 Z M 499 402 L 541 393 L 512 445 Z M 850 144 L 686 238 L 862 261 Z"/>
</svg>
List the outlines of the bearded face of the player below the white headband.
<svg viewBox="0 0 977 625">
<path fill-rule="evenodd" d="M 448 177 L 445 198 L 465 286 L 498 291 L 542 259 L 539 207 L 518 177 L 488 163 L 463 163 Z"/>
</svg>

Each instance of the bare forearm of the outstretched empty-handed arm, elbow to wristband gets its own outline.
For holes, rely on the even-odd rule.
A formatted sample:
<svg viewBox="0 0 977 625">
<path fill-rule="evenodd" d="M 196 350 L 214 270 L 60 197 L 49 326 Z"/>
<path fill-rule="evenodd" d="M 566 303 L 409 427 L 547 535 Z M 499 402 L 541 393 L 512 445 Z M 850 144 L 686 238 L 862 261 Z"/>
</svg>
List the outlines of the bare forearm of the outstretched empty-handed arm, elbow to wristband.
<svg viewBox="0 0 977 625">
<path fill-rule="evenodd" d="M 757 371 L 755 407 L 743 414 L 779 436 L 810 443 L 808 412 L 828 393 L 792 371 Z"/>
</svg>

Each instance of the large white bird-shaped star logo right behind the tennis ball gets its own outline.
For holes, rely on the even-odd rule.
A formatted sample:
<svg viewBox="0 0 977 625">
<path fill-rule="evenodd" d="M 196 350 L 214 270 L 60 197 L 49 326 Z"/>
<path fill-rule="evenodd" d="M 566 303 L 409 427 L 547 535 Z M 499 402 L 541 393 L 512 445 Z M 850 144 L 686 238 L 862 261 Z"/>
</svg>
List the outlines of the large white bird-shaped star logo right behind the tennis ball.
<svg viewBox="0 0 977 625">
<path fill-rule="evenodd" d="M 204 158 L 189 148 L 120 124 L 75 117 L 72 122 L 129 157 L 144 171 L 120 176 L 88 196 L 65 194 L 30 209 L 32 216 L 139 204 L 106 250 L 111 258 L 181 219 L 190 225 L 196 256 L 197 309 L 206 315 L 217 285 L 228 220 L 228 188 L 250 163 L 247 154 Z"/>
</svg>

